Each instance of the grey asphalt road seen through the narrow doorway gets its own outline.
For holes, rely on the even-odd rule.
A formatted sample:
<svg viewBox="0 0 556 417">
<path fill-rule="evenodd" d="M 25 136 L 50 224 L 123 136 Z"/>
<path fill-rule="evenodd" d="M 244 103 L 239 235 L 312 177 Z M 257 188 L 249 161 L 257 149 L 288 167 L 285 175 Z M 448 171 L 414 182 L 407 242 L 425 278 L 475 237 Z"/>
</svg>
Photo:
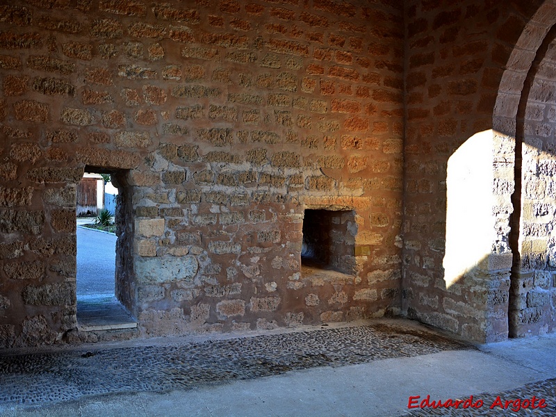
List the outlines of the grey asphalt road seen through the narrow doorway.
<svg viewBox="0 0 556 417">
<path fill-rule="evenodd" d="M 116 236 L 77 228 L 77 296 L 114 295 Z"/>
</svg>

